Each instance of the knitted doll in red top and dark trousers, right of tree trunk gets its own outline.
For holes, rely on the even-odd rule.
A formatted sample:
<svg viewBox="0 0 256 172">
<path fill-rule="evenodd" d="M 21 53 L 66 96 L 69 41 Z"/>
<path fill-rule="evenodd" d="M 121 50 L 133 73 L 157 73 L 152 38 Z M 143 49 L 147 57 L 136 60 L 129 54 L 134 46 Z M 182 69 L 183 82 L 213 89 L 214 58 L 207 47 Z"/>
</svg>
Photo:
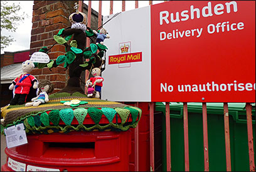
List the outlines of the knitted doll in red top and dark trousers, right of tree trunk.
<svg viewBox="0 0 256 172">
<path fill-rule="evenodd" d="M 95 98 L 100 98 L 100 91 L 103 86 L 102 82 L 104 81 L 104 79 L 100 76 L 100 68 L 93 68 L 92 75 L 94 78 L 90 78 L 90 81 L 92 81 L 93 87 L 96 91 Z"/>
</svg>

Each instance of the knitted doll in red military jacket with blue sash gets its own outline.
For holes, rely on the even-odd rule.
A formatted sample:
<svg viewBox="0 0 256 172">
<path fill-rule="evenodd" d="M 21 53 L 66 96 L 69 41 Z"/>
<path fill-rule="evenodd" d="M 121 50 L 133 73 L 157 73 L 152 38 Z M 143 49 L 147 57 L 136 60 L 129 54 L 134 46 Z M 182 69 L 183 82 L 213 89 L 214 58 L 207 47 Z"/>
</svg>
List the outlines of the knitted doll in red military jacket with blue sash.
<svg viewBox="0 0 256 172">
<path fill-rule="evenodd" d="M 13 83 L 9 86 L 10 90 L 14 90 L 14 98 L 11 99 L 10 104 L 24 104 L 27 100 L 29 91 L 33 86 L 34 89 L 37 88 L 37 80 L 35 76 L 29 74 L 35 65 L 32 61 L 26 60 L 22 63 L 23 73 L 13 80 Z"/>
</svg>

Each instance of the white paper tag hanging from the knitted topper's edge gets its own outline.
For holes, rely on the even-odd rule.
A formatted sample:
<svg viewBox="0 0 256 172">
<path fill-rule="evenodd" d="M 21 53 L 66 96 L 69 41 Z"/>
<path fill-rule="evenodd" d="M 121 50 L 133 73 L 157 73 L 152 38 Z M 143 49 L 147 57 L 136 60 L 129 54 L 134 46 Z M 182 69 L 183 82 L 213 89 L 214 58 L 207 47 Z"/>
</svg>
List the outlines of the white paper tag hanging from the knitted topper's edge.
<svg viewBox="0 0 256 172">
<path fill-rule="evenodd" d="M 23 123 L 5 128 L 4 133 L 6 134 L 7 148 L 28 143 Z"/>
</svg>

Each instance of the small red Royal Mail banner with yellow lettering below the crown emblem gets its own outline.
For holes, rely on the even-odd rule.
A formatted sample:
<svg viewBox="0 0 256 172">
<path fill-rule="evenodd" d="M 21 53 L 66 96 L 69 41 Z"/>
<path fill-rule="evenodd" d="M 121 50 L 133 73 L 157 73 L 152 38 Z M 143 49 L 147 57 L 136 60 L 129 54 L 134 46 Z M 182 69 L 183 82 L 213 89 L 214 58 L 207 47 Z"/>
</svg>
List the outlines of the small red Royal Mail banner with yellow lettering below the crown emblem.
<svg viewBox="0 0 256 172">
<path fill-rule="evenodd" d="M 133 63 L 137 61 L 142 61 L 142 52 L 109 56 L 109 64 Z"/>
</svg>

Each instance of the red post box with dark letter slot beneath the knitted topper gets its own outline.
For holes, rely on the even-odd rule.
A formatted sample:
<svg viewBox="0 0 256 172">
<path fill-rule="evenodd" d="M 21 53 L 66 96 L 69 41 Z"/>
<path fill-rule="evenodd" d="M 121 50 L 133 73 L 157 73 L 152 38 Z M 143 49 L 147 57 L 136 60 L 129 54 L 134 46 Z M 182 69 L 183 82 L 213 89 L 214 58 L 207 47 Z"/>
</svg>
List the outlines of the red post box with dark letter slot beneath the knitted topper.
<svg viewBox="0 0 256 172">
<path fill-rule="evenodd" d="M 5 153 L 1 171 L 129 171 L 131 131 L 33 134 Z"/>
</svg>

